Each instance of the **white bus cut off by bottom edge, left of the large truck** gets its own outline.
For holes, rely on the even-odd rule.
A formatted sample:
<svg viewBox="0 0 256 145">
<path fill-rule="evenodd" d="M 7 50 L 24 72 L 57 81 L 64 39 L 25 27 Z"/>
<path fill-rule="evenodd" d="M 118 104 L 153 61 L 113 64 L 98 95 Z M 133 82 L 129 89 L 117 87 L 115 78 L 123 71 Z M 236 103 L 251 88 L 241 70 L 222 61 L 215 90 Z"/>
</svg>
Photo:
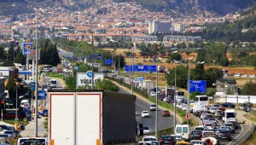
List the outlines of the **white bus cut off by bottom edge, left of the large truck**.
<svg viewBox="0 0 256 145">
<path fill-rule="evenodd" d="M 17 145 L 48 145 L 45 137 L 20 137 Z"/>
</svg>

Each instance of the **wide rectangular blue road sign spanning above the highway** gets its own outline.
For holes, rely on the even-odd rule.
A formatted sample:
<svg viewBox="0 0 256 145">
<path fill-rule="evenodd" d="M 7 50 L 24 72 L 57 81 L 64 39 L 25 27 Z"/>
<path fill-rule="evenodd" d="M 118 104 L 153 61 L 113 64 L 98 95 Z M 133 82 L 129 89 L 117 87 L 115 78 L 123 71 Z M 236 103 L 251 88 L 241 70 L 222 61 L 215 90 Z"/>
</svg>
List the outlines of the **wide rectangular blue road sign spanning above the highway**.
<svg viewBox="0 0 256 145">
<path fill-rule="evenodd" d="M 125 65 L 125 72 L 132 72 L 133 65 Z M 156 72 L 155 65 L 134 65 L 133 72 Z"/>
</svg>

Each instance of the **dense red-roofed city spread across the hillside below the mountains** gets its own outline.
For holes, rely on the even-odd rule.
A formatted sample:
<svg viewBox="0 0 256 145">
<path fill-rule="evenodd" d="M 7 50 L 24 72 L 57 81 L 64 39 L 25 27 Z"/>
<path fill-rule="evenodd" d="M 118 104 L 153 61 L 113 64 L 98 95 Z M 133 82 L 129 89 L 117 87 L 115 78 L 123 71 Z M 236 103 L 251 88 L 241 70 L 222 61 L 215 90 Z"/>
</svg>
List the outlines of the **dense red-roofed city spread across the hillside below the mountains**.
<svg viewBox="0 0 256 145">
<path fill-rule="evenodd" d="M 22 6 L 14 5 L 14 7 Z M 99 13 L 98 9 L 107 11 L 107 14 L 96 14 Z M 99 37 L 101 42 L 106 42 L 107 38 L 114 41 L 119 38 L 131 41 L 132 38 L 148 37 L 154 32 L 199 32 L 203 29 L 201 25 L 205 23 L 221 23 L 224 20 L 237 19 L 239 14 L 182 20 L 162 12 L 149 12 L 136 3 L 108 3 L 76 12 L 58 7 L 43 6 L 38 9 L 39 28 L 45 28 L 45 32 L 53 32 L 55 37 L 79 41 L 91 41 L 91 31 L 95 32 L 95 37 Z M 35 39 L 36 25 L 36 14 L 20 14 L 18 20 L 14 21 L 9 16 L 2 15 L 0 35 L 11 36 L 14 40 L 15 38 Z M 154 37 L 148 40 L 155 41 Z M 11 40 L 1 39 L 0 43 L 4 44 L 4 41 Z"/>
</svg>

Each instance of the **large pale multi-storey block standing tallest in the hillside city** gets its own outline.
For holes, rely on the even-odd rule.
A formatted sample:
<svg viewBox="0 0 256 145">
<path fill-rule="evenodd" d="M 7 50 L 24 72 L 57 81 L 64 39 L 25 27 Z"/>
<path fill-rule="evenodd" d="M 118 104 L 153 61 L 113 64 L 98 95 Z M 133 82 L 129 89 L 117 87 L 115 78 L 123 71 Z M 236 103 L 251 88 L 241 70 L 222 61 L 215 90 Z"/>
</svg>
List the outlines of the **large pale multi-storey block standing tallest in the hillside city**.
<svg viewBox="0 0 256 145">
<path fill-rule="evenodd" d="M 149 21 L 148 34 L 152 34 L 155 32 L 171 32 L 171 23 L 167 21 Z"/>
</svg>

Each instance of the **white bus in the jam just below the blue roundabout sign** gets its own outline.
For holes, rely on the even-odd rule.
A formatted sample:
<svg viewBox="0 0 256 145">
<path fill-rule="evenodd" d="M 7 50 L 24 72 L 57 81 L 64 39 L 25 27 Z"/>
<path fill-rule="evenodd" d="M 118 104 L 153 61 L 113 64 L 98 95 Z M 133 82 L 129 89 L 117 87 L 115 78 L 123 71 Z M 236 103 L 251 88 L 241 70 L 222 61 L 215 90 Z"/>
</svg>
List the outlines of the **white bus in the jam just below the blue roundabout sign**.
<svg viewBox="0 0 256 145">
<path fill-rule="evenodd" d="M 194 103 L 190 103 L 191 112 L 202 110 L 202 107 L 209 106 L 208 96 L 195 96 Z"/>
</svg>

